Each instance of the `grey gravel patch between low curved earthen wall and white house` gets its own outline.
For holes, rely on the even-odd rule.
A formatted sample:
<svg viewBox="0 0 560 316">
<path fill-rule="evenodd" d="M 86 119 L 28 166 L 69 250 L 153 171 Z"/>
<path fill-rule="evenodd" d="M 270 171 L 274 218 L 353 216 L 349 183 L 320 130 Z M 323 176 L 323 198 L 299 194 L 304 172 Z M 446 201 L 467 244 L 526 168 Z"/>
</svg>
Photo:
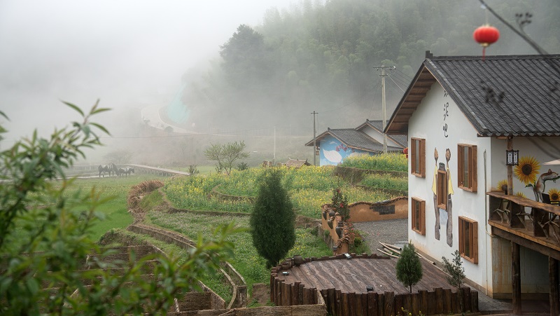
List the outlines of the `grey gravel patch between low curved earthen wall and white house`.
<svg viewBox="0 0 560 316">
<path fill-rule="evenodd" d="M 381 254 L 379 242 L 402 247 L 408 242 L 408 219 L 385 219 L 383 221 L 363 221 L 353 226 L 362 234 L 372 254 Z"/>
</svg>

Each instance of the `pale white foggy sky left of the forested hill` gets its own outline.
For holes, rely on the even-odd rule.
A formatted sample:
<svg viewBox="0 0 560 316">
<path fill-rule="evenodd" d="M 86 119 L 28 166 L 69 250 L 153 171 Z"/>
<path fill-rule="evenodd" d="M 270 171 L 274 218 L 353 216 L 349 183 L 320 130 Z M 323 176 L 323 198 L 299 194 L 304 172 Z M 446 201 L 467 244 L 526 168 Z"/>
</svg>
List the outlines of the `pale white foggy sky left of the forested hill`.
<svg viewBox="0 0 560 316">
<path fill-rule="evenodd" d="M 51 132 L 77 118 L 61 99 L 118 108 L 173 95 L 185 71 L 217 55 L 239 25 L 295 3 L 0 0 L 0 110 L 10 117 L 0 122 L 12 135 Z"/>
</svg>

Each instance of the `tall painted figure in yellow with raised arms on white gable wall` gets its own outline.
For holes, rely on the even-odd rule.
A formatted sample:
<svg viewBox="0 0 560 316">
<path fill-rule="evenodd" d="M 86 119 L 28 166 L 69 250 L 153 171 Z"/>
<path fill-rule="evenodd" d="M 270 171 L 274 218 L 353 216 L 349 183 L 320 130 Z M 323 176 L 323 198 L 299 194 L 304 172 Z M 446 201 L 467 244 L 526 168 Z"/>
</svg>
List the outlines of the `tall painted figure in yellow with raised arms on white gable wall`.
<svg viewBox="0 0 560 316">
<path fill-rule="evenodd" d="M 451 151 L 445 149 L 446 163 L 437 164 L 439 155 L 437 148 L 433 151 L 433 158 L 435 160 L 434 174 L 433 174 L 433 207 L 435 211 L 435 239 L 440 240 L 440 223 L 445 221 L 447 228 L 447 245 L 453 245 L 453 203 L 451 202 L 451 195 L 454 193 L 453 186 L 451 185 L 451 172 L 449 171 L 449 160 L 451 159 Z"/>
</svg>

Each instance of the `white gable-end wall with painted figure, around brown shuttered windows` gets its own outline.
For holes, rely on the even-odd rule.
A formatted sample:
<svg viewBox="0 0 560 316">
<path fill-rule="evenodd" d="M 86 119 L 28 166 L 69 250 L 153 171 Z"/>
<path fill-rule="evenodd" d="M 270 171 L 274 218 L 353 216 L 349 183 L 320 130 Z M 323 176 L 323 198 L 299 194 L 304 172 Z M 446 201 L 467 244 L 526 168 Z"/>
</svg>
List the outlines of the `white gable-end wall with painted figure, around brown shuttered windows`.
<svg viewBox="0 0 560 316">
<path fill-rule="evenodd" d="M 411 137 L 426 139 L 426 177 L 409 174 L 409 199 L 426 201 L 426 235 L 412 231 L 409 217 L 409 239 L 415 247 L 437 261 L 447 259 L 458 249 L 458 217 L 468 217 L 479 223 L 478 263 L 463 260 L 465 275 L 473 282 L 487 287 L 486 269 L 491 269 L 490 247 L 486 247 L 484 205 L 484 151 L 490 148 L 490 139 L 477 137 L 476 131 L 439 83 L 435 83 L 409 120 Z M 465 191 L 457 183 L 457 144 L 477 146 L 478 191 Z M 410 168 L 410 165 L 409 165 Z M 449 175 L 447 209 L 435 202 L 435 174 L 437 170 Z M 409 209 L 411 206 L 409 205 Z M 491 270 L 490 270 L 491 271 Z"/>
</svg>

